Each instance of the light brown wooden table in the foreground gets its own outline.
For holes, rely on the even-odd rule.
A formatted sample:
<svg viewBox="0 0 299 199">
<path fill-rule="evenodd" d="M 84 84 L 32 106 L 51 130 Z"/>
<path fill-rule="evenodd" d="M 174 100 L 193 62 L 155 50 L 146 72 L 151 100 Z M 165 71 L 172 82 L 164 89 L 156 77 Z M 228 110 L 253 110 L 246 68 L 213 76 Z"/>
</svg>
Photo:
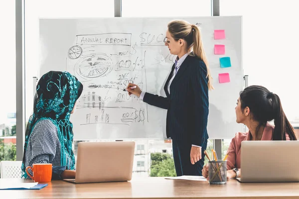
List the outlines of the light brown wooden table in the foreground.
<svg viewBox="0 0 299 199">
<path fill-rule="evenodd" d="M 0 179 L 5 183 L 10 179 Z M 15 180 L 14 181 L 23 181 Z M 30 181 L 28 181 L 30 182 Z M 299 199 L 299 183 L 239 183 L 136 178 L 130 182 L 71 184 L 52 181 L 41 190 L 0 190 L 0 199 Z"/>
</svg>

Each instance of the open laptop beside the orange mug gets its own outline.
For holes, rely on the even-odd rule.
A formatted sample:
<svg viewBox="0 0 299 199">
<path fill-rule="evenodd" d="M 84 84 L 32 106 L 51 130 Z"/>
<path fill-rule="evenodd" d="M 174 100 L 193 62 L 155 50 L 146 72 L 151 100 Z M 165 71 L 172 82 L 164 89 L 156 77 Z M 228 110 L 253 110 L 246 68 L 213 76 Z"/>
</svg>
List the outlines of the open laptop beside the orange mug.
<svg viewBox="0 0 299 199">
<path fill-rule="evenodd" d="M 134 141 L 79 142 L 75 179 L 70 183 L 122 182 L 132 179 Z"/>
</svg>

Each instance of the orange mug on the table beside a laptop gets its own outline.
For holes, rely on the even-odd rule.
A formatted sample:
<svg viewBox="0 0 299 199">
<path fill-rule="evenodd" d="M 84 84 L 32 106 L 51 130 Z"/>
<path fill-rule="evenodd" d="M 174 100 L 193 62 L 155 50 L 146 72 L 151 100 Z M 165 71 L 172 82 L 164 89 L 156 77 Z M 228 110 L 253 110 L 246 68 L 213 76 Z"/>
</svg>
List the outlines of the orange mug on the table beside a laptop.
<svg viewBox="0 0 299 199">
<path fill-rule="evenodd" d="M 28 173 L 28 169 L 31 169 L 33 176 Z M 52 164 L 33 164 L 33 167 L 26 167 L 26 173 L 35 183 L 51 182 Z"/>
</svg>

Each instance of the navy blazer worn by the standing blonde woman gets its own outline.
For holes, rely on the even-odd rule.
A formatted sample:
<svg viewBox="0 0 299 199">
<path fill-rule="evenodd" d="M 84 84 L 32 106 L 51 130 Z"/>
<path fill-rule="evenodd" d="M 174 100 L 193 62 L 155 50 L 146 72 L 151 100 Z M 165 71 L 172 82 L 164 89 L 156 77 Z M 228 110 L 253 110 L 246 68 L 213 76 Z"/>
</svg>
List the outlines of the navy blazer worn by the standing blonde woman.
<svg viewBox="0 0 299 199">
<path fill-rule="evenodd" d="M 174 64 L 164 86 L 166 98 L 146 93 L 144 101 L 167 109 L 166 135 L 173 140 L 189 141 L 202 146 L 208 139 L 207 122 L 209 114 L 208 79 L 205 63 L 188 55 L 181 64 L 170 85 Z"/>
</svg>

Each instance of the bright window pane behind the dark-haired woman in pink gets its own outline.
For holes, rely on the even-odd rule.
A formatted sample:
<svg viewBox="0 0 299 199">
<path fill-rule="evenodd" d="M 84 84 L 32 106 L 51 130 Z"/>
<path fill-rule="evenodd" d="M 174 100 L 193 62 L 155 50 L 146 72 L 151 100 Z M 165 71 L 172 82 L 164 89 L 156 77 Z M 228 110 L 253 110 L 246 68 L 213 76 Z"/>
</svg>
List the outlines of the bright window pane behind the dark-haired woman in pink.
<svg viewBox="0 0 299 199">
<path fill-rule="evenodd" d="M 243 16 L 243 68 L 249 75 L 248 85 L 262 85 L 277 94 L 295 128 L 299 123 L 298 7 L 296 0 L 220 0 L 220 15 Z M 222 155 L 230 141 L 224 140 Z"/>
</svg>

